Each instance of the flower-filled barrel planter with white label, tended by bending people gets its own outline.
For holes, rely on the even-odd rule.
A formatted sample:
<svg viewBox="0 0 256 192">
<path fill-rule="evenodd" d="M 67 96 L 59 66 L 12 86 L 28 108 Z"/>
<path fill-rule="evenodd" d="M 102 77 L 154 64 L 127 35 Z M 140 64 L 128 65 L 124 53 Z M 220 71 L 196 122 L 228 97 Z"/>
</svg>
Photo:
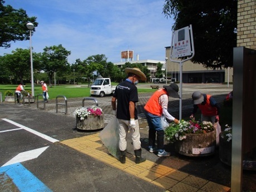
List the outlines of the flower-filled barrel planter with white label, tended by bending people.
<svg viewBox="0 0 256 192">
<path fill-rule="evenodd" d="M 166 128 L 165 139 L 174 142 L 175 151 L 181 155 L 208 156 L 215 152 L 216 132 L 211 122 L 181 120 Z"/>
</svg>

